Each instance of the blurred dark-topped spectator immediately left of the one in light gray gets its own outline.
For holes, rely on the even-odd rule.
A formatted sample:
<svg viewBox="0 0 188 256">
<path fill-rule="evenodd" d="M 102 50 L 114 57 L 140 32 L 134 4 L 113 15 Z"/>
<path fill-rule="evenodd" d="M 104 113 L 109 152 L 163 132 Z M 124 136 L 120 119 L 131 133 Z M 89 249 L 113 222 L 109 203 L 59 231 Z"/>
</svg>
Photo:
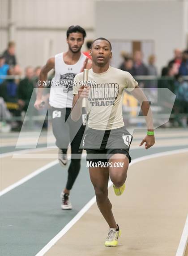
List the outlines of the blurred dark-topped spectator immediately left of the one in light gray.
<svg viewBox="0 0 188 256">
<path fill-rule="evenodd" d="M 136 51 L 134 53 L 134 65 L 133 72 L 135 76 L 147 76 L 148 70 L 146 65 L 143 63 L 143 54 L 141 51 Z"/>
</svg>

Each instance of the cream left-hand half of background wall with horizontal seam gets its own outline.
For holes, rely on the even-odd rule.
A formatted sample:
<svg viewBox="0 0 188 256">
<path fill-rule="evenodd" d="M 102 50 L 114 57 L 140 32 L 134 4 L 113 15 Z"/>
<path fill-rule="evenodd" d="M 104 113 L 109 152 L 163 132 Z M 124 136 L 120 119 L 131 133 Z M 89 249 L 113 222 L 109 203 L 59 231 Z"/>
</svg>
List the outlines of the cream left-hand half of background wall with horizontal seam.
<svg viewBox="0 0 188 256">
<path fill-rule="evenodd" d="M 86 40 L 94 38 L 94 1 L 0 0 L 0 3 L 0 52 L 9 39 L 16 41 L 17 59 L 22 67 L 42 65 L 47 58 L 67 50 L 66 30 L 71 25 L 84 27 Z M 8 16 L 12 16 L 11 21 Z"/>
</svg>

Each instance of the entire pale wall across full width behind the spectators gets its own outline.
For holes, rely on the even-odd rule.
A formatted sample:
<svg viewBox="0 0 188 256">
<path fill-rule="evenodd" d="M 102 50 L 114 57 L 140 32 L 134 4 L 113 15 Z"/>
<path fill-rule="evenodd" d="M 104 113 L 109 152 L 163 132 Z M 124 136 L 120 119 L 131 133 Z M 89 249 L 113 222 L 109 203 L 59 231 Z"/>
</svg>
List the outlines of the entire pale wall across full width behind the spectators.
<svg viewBox="0 0 188 256">
<path fill-rule="evenodd" d="M 0 0 L 0 52 L 9 39 L 17 43 L 22 67 L 42 65 L 67 49 L 66 30 L 79 24 L 86 39 L 154 40 L 157 66 L 184 49 L 187 0 Z M 83 48 L 84 50 L 84 48 Z M 118 54 L 118 53 L 117 53 Z"/>
</svg>

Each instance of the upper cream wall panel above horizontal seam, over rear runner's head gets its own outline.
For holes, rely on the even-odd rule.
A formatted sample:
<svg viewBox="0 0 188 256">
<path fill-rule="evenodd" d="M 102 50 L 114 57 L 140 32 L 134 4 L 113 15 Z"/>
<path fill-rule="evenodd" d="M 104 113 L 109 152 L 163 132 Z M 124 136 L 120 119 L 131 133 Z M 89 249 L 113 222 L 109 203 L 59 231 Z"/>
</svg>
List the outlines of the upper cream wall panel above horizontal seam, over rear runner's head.
<svg viewBox="0 0 188 256">
<path fill-rule="evenodd" d="M 68 27 L 94 25 L 94 1 L 13 0 L 17 26 Z"/>
</svg>

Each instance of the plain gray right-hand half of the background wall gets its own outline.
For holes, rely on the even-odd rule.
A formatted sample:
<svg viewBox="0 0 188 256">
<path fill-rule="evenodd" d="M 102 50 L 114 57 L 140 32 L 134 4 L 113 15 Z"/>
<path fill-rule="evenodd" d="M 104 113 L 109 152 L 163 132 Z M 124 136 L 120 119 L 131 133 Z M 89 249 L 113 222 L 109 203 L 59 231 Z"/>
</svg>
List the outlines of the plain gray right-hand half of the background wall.
<svg viewBox="0 0 188 256">
<path fill-rule="evenodd" d="M 161 69 L 172 58 L 175 48 L 186 47 L 187 3 L 187 0 L 96 2 L 96 36 L 154 40 L 157 66 Z"/>
</svg>

